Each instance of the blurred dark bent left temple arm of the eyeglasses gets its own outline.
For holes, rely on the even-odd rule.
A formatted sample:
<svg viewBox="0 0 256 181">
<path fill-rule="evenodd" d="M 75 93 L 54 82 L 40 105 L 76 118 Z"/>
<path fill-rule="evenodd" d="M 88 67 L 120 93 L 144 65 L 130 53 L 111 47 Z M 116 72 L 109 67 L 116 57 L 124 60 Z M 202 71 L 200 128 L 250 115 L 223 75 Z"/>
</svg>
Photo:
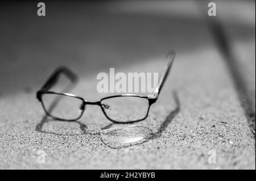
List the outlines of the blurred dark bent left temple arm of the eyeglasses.
<svg viewBox="0 0 256 181">
<path fill-rule="evenodd" d="M 41 91 L 47 91 L 51 89 L 51 87 L 55 85 L 55 83 L 57 82 L 61 74 L 66 75 L 71 80 L 72 83 L 76 83 L 78 80 L 77 76 L 71 70 L 63 66 L 63 67 L 57 68 L 52 73 L 52 75 L 47 79 L 47 81 L 42 86 Z"/>
</svg>

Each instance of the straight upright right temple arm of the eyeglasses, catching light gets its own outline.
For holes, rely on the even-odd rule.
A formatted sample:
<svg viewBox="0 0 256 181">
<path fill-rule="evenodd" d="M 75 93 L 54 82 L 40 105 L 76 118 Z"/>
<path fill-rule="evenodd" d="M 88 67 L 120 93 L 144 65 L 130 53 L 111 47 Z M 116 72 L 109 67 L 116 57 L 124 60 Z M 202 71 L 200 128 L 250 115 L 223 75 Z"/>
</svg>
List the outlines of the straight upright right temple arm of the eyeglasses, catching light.
<svg viewBox="0 0 256 181">
<path fill-rule="evenodd" d="M 164 82 L 166 82 L 166 79 L 167 79 L 168 75 L 170 74 L 170 70 L 172 67 L 172 63 L 174 62 L 175 55 L 176 55 L 175 50 L 170 50 L 167 53 L 167 64 L 164 67 L 164 71 L 163 71 L 160 81 L 158 83 L 158 87 L 156 87 L 156 89 L 154 91 L 154 98 L 158 98 L 158 95 L 160 94 L 160 91 L 162 90 Z"/>
</svg>

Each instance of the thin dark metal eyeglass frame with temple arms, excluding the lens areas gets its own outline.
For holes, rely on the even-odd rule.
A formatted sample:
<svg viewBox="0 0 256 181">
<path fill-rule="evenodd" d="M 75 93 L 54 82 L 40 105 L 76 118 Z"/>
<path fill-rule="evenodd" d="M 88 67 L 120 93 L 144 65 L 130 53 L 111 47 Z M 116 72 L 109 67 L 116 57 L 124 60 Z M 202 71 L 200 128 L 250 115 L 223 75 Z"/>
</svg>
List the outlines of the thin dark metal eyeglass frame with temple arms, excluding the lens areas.
<svg viewBox="0 0 256 181">
<path fill-rule="evenodd" d="M 135 123 L 138 121 L 142 121 L 144 119 L 147 118 L 148 116 L 148 112 L 150 110 L 150 107 L 152 104 L 154 104 L 156 102 L 156 100 L 158 99 L 158 96 L 160 94 L 160 91 L 162 90 L 162 87 L 164 85 L 164 82 L 166 82 L 166 79 L 168 77 L 168 74 L 170 73 L 171 67 L 172 67 L 172 63 L 174 62 L 174 58 L 175 58 L 175 51 L 174 50 L 170 50 L 167 54 L 167 64 L 164 67 L 164 71 L 162 73 L 162 76 L 160 78 L 158 87 L 156 87 L 156 89 L 154 90 L 154 94 L 152 96 L 143 96 L 143 95 L 135 95 L 135 94 L 122 94 L 122 95 L 113 95 L 113 96 L 108 96 L 105 98 L 102 98 L 100 101 L 97 102 L 90 102 L 88 100 L 85 100 L 84 98 L 81 98 L 80 96 L 74 95 L 74 94 L 70 94 L 70 93 L 66 93 L 66 92 L 53 92 L 53 91 L 49 91 L 49 89 L 51 89 L 55 83 L 57 82 L 57 80 L 59 79 L 61 74 L 66 75 L 72 83 L 76 83 L 78 81 L 77 76 L 72 73 L 71 70 L 65 68 L 65 67 L 60 67 L 58 69 L 56 69 L 53 74 L 47 79 L 47 81 L 44 83 L 44 85 L 42 86 L 42 88 L 36 92 L 36 98 L 39 100 L 39 102 L 42 103 L 44 112 L 46 112 L 46 115 L 49 117 L 52 117 L 55 120 L 60 120 L 60 121 L 76 121 L 79 120 L 80 117 L 82 116 L 82 114 L 84 113 L 85 110 L 85 105 L 86 104 L 91 104 L 91 105 L 98 105 L 101 107 L 101 110 L 103 111 L 104 115 L 112 122 L 114 123 L 122 123 L 122 124 L 127 124 L 127 123 Z M 70 96 L 73 98 L 77 98 L 82 100 L 82 106 L 81 106 L 81 114 L 79 117 L 77 117 L 76 119 L 60 119 L 59 117 L 55 117 L 51 115 L 51 110 L 54 107 L 54 105 L 57 103 L 57 100 L 55 100 L 55 102 L 53 102 L 53 104 L 51 105 L 51 107 L 49 108 L 49 111 L 47 111 L 46 107 L 44 106 L 43 100 L 42 100 L 42 95 L 44 94 L 56 94 L 56 95 L 65 95 L 65 96 Z M 143 99 L 147 99 L 148 100 L 148 108 L 147 108 L 147 114 L 143 119 L 139 119 L 139 120 L 134 120 L 134 121 L 126 121 L 126 122 L 121 122 L 121 121 L 117 121 L 117 120 L 113 120 L 110 119 L 110 117 L 107 115 L 107 113 L 104 110 L 104 104 L 102 104 L 102 100 L 105 99 L 110 99 L 110 98 L 117 98 L 117 97 L 121 97 L 121 96 L 133 96 L 133 97 L 138 97 L 138 98 L 143 98 Z"/>
</svg>

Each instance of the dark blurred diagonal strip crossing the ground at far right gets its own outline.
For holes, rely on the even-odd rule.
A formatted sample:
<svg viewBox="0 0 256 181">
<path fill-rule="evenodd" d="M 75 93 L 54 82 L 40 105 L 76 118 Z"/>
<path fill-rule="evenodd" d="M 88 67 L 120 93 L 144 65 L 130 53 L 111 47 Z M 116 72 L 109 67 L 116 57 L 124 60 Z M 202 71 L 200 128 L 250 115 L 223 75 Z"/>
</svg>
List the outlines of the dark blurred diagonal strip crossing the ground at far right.
<svg viewBox="0 0 256 181">
<path fill-rule="evenodd" d="M 253 98 L 250 95 L 250 91 L 246 84 L 246 79 L 243 77 L 241 70 L 242 66 L 234 55 L 228 36 L 226 35 L 221 22 L 216 18 L 207 18 L 207 23 L 209 30 L 212 32 L 213 38 L 216 41 L 217 47 L 224 57 L 234 87 L 236 88 L 241 107 L 245 112 L 247 123 L 255 137 L 255 107 Z"/>
</svg>

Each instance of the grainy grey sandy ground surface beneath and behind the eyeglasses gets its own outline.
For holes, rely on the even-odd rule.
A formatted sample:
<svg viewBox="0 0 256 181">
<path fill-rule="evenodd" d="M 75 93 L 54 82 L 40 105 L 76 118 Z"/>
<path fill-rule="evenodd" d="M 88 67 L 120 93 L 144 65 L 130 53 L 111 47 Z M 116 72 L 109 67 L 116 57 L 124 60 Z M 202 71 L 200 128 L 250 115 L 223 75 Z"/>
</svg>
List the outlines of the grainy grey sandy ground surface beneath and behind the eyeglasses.
<svg viewBox="0 0 256 181">
<path fill-rule="evenodd" d="M 241 20 L 224 14 L 224 24 L 255 112 L 255 19 L 245 21 L 255 15 L 255 2 L 242 7 Z M 191 15 L 49 3 L 39 18 L 36 5 L 6 5 L 0 11 L 0 169 L 255 169 L 255 137 L 230 65 L 196 8 L 183 8 Z M 77 123 L 44 119 L 35 92 L 57 66 L 79 75 L 74 94 L 99 100 L 105 95 L 96 91 L 98 73 L 160 72 L 170 48 L 177 53 L 171 76 L 140 123 L 152 130 L 150 139 L 108 144 L 99 131 L 111 122 L 94 106 Z"/>
</svg>

